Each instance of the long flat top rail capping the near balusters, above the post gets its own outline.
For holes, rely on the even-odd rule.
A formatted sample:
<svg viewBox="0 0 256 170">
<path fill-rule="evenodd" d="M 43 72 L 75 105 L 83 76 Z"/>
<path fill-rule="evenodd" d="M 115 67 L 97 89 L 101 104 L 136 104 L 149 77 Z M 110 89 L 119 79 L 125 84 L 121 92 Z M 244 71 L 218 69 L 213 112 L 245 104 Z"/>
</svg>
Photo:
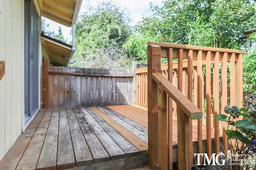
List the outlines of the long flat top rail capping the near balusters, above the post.
<svg viewBox="0 0 256 170">
<path fill-rule="evenodd" d="M 190 46 L 184 44 L 170 44 L 164 42 L 148 42 L 148 46 L 160 46 L 161 48 L 182 48 L 182 49 L 192 49 L 192 50 L 202 50 L 202 51 L 213 51 L 213 52 L 226 52 L 226 53 L 239 53 L 245 54 L 246 50 L 240 49 L 226 49 L 226 48 L 213 48 L 213 47 L 202 47 L 202 46 Z"/>
</svg>

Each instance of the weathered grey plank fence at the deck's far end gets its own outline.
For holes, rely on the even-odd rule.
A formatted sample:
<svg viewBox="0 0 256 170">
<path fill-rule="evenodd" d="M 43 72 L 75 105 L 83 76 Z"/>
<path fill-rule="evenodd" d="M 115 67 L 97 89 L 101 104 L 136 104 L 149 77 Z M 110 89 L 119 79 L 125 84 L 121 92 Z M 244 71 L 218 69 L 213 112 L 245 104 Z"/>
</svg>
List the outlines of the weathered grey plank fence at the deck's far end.
<svg viewBox="0 0 256 170">
<path fill-rule="evenodd" d="M 48 66 L 42 80 L 42 108 L 133 104 L 132 69 L 84 69 Z"/>
</svg>

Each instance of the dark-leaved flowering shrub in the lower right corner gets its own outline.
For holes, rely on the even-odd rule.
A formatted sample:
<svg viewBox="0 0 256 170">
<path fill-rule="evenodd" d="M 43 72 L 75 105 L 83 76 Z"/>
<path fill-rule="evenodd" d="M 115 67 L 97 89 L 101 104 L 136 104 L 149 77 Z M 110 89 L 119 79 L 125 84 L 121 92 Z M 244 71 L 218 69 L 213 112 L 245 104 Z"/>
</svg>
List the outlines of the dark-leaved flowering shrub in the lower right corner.
<svg viewBox="0 0 256 170">
<path fill-rule="evenodd" d="M 216 118 L 228 124 L 225 132 L 232 144 L 233 153 L 240 155 L 239 160 L 243 160 L 239 162 L 240 168 L 256 170 L 256 93 L 245 98 L 243 106 L 240 109 L 237 106 L 225 106 L 226 114 L 218 114 Z M 245 160 L 254 160 L 254 163 L 246 163 Z"/>
</svg>

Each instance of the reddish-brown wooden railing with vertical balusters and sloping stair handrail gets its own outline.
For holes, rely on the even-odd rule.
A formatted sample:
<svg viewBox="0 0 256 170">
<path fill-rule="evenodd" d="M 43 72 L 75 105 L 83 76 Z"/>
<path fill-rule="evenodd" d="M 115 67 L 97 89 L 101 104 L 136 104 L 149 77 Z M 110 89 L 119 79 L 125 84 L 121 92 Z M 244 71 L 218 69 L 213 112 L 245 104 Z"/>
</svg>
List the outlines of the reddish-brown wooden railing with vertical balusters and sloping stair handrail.
<svg viewBox="0 0 256 170">
<path fill-rule="evenodd" d="M 135 73 L 136 91 L 139 92 L 136 104 L 148 108 L 148 165 L 152 170 L 172 170 L 172 117 L 175 112 L 179 169 L 191 169 L 193 152 L 203 153 L 203 120 L 200 118 L 204 99 L 206 153 L 211 156 L 212 153 L 220 152 L 220 132 L 223 133 L 223 148 L 227 153 L 228 141 L 224 132 L 226 125 L 222 123 L 220 131 L 219 121 L 215 116 L 223 113 L 227 104 L 242 107 L 243 53 L 246 51 L 148 42 L 148 68 L 136 69 Z M 168 58 L 168 63 L 161 65 L 161 57 Z M 178 62 L 173 62 L 173 58 L 178 58 Z M 174 111 L 173 101 L 176 103 Z M 198 119 L 197 150 L 193 150 L 192 145 L 191 119 Z M 211 151 L 212 126 L 214 151 Z"/>
</svg>

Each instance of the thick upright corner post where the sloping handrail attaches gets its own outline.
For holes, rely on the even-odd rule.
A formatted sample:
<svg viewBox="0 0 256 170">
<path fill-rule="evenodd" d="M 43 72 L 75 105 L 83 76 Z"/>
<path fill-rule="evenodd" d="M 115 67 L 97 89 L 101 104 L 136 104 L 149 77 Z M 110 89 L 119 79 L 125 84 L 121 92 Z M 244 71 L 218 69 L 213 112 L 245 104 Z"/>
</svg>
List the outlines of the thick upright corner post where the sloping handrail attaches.
<svg viewBox="0 0 256 170">
<path fill-rule="evenodd" d="M 148 45 L 148 166 L 157 170 L 158 163 L 158 84 L 152 73 L 161 72 L 161 48 Z"/>
</svg>

